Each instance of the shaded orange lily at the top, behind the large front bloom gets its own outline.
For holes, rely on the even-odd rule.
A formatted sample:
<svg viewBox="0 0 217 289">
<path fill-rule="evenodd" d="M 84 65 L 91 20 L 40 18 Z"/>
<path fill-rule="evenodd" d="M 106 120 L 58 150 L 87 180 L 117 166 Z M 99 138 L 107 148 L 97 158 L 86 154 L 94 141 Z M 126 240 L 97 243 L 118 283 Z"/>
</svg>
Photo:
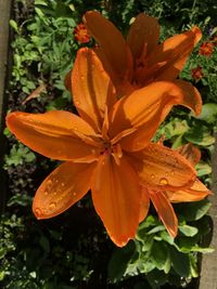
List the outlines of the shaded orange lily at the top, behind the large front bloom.
<svg viewBox="0 0 217 289">
<path fill-rule="evenodd" d="M 87 12 L 84 24 L 99 43 L 97 53 L 120 95 L 153 81 L 175 80 L 202 37 L 200 28 L 194 26 L 158 44 L 158 23 L 143 13 L 136 17 L 126 40 L 97 11 Z"/>
</svg>

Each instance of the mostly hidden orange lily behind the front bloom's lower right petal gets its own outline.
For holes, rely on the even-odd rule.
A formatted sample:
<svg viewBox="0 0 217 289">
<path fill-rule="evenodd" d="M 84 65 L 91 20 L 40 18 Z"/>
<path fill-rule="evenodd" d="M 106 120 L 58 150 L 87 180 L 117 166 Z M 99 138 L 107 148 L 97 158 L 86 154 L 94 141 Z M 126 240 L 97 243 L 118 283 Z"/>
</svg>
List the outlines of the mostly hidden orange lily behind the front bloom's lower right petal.
<svg viewBox="0 0 217 289">
<path fill-rule="evenodd" d="M 163 147 L 163 146 L 162 146 Z M 187 144 L 177 149 L 177 152 L 188 159 L 192 166 L 195 166 L 200 158 L 200 150 L 192 144 Z M 137 162 L 135 161 L 135 165 Z M 176 174 L 175 170 L 170 172 L 165 171 L 165 175 Z M 155 174 L 152 178 L 156 178 Z M 166 184 L 167 179 L 163 179 L 162 182 Z M 174 238 L 178 232 L 178 219 L 170 202 L 186 202 L 186 201 L 199 201 L 208 195 L 210 191 L 199 180 L 195 179 L 193 184 L 189 184 L 182 189 L 164 189 L 155 191 L 142 185 L 142 203 L 140 209 L 140 222 L 143 221 L 149 212 L 150 200 L 153 202 L 157 214 L 165 225 L 169 235 Z"/>
</svg>

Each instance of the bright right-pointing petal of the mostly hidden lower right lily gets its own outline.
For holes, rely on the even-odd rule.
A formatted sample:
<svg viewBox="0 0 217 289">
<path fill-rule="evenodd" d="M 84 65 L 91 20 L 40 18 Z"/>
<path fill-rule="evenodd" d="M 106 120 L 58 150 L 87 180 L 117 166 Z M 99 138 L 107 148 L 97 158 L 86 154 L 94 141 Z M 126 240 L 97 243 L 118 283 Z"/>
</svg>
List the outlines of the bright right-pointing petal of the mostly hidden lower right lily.
<svg viewBox="0 0 217 289">
<path fill-rule="evenodd" d="M 168 199 L 173 202 L 197 201 L 210 194 L 210 191 L 199 179 L 195 180 L 190 188 L 166 192 Z"/>
</svg>

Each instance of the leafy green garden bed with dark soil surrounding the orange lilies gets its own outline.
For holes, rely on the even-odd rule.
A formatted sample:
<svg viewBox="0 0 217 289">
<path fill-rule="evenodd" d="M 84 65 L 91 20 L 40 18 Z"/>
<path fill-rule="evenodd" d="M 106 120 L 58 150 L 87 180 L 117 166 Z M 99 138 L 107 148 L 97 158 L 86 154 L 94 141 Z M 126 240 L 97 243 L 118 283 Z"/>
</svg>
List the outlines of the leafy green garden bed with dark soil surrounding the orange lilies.
<svg viewBox="0 0 217 289">
<path fill-rule="evenodd" d="M 180 32 L 190 24 L 197 24 L 204 31 L 203 41 L 210 41 L 215 36 L 212 18 L 215 10 L 205 1 L 194 1 L 192 4 L 189 5 L 189 1 L 182 4 L 173 1 L 169 4 L 164 1 L 156 1 L 155 4 L 131 1 L 128 5 L 125 1 L 118 4 L 103 1 L 95 5 L 91 1 L 14 1 L 11 21 L 14 31 L 13 65 L 9 69 L 12 73 L 5 96 L 8 110 L 75 111 L 71 94 L 64 87 L 64 77 L 73 66 L 76 51 L 85 45 L 76 41 L 73 31 L 87 10 L 103 11 L 124 31 L 128 29 L 132 16 L 145 11 L 159 18 L 162 39 Z M 178 19 L 177 13 L 180 14 Z M 93 40 L 88 45 L 92 47 Z M 208 58 L 199 55 L 196 48 L 181 74 L 202 93 L 206 104 L 202 116 L 195 118 L 187 109 L 176 108 L 158 132 L 166 136 L 169 146 L 192 142 L 201 148 L 202 161 L 197 171 L 207 186 L 212 183 L 210 155 L 214 152 L 217 111 L 216 60 L 216 48 Z M 192 69 L 199 66 L 203 66 L 203 76 L 196 79 Z M 33 91 L 35 93 L 28 97 Z M 210 231 L 206 215 L 210 205 L 207 200 L 175 206 L 177 214 L 183 219 L 176 246 L 151 208 L 149 218 L 138 231 L 137 240 L 117 249 L 94 212 L 90 193 L 62 215 L 46 221 L 35 219 L 31 213 L 33 196 L 58 162 L 33 153 L 18 143 L 8 129 L 4 135 L 8 137 L 4 157 L 8 195 L 7 202 L 2 199 L 7 209 L 0 224 L 3 232 L 0 259 L 2 288 L 199 287 L 195 262 L 200 252 L 209 252 L 208 248 L 201 247 L 204 235 Z M 197 251 L 192 249 L 195 244 Z M 168 255 L 162 253 L 165 248 L 173 257 L 167 266 Z M 151 251 L 151 255 L 145 254 L 146 251 Z M 203 289 L 203 286 L 200 288 Z"/>
</svg>

